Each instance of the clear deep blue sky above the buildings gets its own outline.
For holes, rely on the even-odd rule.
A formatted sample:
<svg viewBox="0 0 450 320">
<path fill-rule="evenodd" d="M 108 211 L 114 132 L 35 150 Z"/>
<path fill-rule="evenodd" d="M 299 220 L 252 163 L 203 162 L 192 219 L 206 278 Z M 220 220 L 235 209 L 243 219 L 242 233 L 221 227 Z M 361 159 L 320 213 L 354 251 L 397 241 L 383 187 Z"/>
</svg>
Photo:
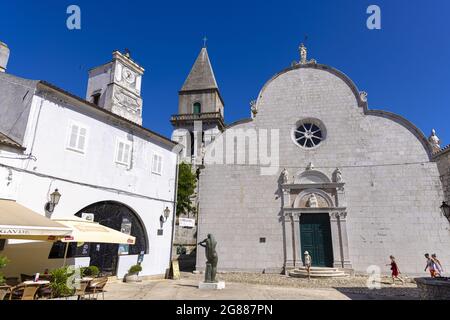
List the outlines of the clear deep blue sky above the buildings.
<svg viewBox="0 0 450 320">
<path fill-rule="evenodd" d="M 71 4 L 81 8 L 81 30 L 66 28 Z M 381 7 L 381 30 L 366 28 L 371 4 Z M 370 109 L 400 114 L 427 136 L 436 128 L 450 143 L 448 0 L 0 0 L 0 7 L 8 72 L 82 97 L 88 69 L 129 48 L 146 68 L 144 126 L 166 136 L 205 35 L 231 123 L 248 117 L 264 83 L 298 60 L 308 34 L 310 57 L 367 91 Z"/>
</svg>

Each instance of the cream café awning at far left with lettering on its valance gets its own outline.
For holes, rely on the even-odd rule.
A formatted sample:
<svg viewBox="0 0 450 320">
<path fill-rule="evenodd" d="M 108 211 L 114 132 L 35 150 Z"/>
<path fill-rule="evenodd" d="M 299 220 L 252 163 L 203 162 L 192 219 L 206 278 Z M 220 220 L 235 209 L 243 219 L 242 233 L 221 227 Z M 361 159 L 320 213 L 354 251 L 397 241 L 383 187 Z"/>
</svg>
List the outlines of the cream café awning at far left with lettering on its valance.
<svg viewBox="0 0 450 320">
<path fill-rule="evenodd" d="M 0 239 L 55 241 L 72 230 L 15 201 L 0 200 Z"/>
</svg>

